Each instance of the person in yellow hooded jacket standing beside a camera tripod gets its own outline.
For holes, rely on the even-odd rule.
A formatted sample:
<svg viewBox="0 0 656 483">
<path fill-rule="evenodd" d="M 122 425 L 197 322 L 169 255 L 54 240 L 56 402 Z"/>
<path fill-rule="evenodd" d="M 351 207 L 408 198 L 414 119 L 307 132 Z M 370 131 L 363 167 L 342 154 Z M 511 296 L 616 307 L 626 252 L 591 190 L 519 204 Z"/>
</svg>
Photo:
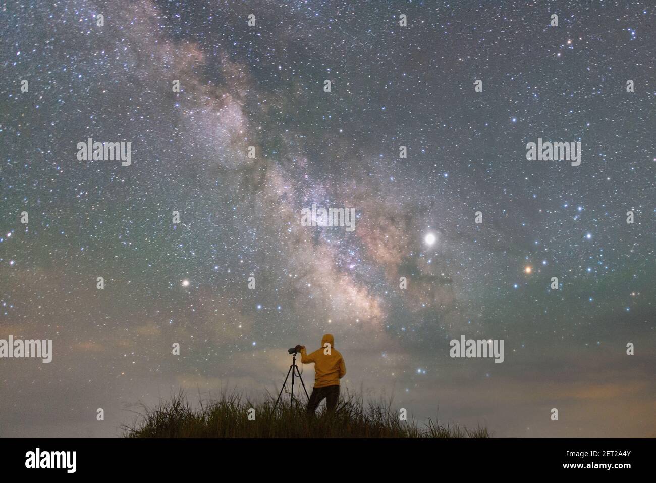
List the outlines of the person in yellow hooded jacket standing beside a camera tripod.
<svg viewBox="0 0 656 483">
<path fill-rule="evenodd" d="M 308 402 L 308 414 L 314 414 L 323 398 L 326 398 L 326 408 L 335 411 L 339 399 L 339 380 L 346 375 L 344 357 L 335 349 L 335 338 L 325 334 L 321 338 L 321 348 L 307 354 L 305 346 L 300 349 L 300 361 L 304 364 L 314 362 L 314 388 Z"/>
</svg>

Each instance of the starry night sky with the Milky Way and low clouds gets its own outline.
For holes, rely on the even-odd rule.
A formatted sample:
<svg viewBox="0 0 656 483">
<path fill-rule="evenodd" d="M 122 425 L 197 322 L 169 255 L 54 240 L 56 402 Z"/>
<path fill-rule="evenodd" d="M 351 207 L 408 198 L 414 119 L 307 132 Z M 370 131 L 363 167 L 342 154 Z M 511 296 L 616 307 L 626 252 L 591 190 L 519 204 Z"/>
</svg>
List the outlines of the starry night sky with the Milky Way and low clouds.
<svg viewBox="0 0 656 483">
<path fill-rule="evenodd" d="M 263 398 L 324 333 L 342 390 L 418 421 L 656 436 L 653 3 L 0 7 L 0 338 L 53 341 L 0 359 L 0 436 L 117 436 L 180 388 Z M 132 164 L 77 160 L 89 137 Z M 538 138 L 581 165 L 527 160 Z M 313 203 L 354 231 L 302 226 Z M 449 357 L 462 335 L 504 362 Z"/>
</svg>

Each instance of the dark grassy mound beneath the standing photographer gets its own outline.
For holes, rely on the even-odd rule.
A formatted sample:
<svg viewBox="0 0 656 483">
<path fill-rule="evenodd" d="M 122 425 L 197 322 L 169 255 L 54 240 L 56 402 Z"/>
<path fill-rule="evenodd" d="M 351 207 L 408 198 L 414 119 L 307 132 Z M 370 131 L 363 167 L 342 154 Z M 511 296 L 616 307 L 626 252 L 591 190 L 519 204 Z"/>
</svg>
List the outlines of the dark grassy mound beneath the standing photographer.
<svg viewBox="0 0 656 483">
<path fill-rule="evenodd" d="M 180 392 L 154 409 L 141 405 L 133 425 L 123 426 L 127 438 L 489 438 L 487 428 L 470 430 L 458 425 L 442 426 L 428 419 L 417 425 L 414 419 L 400 421 L 391 401 L 364 403 L 362 396 L 346 394 L 333 415 L 318 410 L 316 417 L 305 414 L 305 400 L 291 407 L 289 396 L 252 402 L 240 394 L 222 394 L 213 402 L 201 401 L 193 409 Z M 323 405 L 323 403 L 322 403 Z M 255 421 L 249 409 L 255 409 Z M 253 411 L 251 411 L 252 413 Z"/>
</svg>

